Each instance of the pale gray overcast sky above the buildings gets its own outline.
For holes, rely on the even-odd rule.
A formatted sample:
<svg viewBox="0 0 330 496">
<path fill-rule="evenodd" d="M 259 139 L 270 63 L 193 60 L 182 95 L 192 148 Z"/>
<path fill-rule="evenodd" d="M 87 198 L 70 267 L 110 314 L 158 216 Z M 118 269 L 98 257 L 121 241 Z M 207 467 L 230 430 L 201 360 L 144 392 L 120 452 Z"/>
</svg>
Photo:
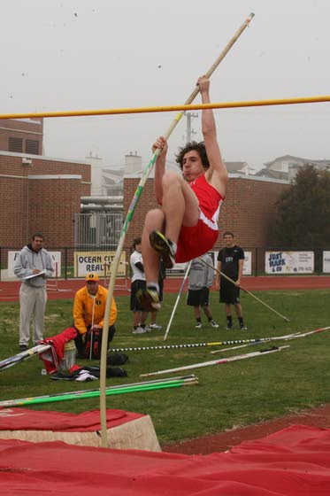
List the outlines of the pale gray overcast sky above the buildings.
<svg viewBox="0 0 330 496">
<path fill-rule="evenodd" d="M 211 101 L 330 94 L 329 0 L 1 0 L 5 112 L 180 105 L 238 27 L 255 18 L 211 77 Z M 196 98 L 200 102 L 200 98 Z M 285 154 L 330 159 L 330 103 L 216 110 L 226 160 L 261 167 Z M 176 112 L 46 119 L 45 154 L 89 152 L 120 165 Z M 194 138 L 202 139 L 200 114 Z M 170 138 L 183 143 L 186 119 Z"/>
</svg>

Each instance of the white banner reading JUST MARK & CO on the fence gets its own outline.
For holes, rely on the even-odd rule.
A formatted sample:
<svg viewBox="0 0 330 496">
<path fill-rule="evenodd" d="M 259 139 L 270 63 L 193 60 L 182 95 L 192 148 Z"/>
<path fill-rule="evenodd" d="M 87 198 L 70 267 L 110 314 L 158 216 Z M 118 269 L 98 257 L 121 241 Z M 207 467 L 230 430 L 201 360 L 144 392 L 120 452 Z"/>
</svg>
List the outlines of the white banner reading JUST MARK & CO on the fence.
<svg viewBox="0 0 330 496">
<path fill-rule="evenodd" d="M 265 252 L 266 274 L 312 274 L 314 252 Z"/>
</svg>

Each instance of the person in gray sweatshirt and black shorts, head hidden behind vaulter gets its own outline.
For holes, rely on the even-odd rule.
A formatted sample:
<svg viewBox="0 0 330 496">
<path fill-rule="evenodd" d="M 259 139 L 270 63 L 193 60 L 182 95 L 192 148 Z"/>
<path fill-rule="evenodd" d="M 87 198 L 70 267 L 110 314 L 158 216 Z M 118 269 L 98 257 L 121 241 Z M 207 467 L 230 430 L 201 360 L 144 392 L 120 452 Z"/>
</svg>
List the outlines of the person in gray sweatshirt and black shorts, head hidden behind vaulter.
<svg viewBox="0 0 330 496">
<path fill-rule="evenodd" d="M 214 270 L 204 264 L 203 260 L 213 267 L 211 256 L 208 253 L 192 261 L 189 271 L 187 305 L 194 307 L 195 329 L 202 329 L 203 327 L 201 307 L 211 326 L 218 328 L 219 324 L 213 320 L 210 309 L 210 288 L 213 284 Z"/>
</svg>

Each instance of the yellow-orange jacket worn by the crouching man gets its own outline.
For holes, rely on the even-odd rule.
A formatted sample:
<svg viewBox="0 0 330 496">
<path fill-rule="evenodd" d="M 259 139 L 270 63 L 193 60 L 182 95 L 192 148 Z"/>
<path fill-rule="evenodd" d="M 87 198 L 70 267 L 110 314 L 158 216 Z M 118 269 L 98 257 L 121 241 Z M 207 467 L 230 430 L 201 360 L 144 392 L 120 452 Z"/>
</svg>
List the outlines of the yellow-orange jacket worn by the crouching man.
<svg viewBox="0 0 330 496">
<path fill-rule="evenodd" d="M 104 326 L 105 304 L 108 295 L 108 290 L 103 286 L 98 285 L 94 304 L 94 325 Z M 89 295 L 87 287 L 84 286 L 81 290 L 77 291 L 73 303 L 73 320 L 74 327 L 79 330 L 81 334 L 87 332 L 87 326 L 92 325 L 93 316 L 93 298 Z M 117 318 L 117 306 L 115 300 L 112 298 L 109 325 L 111 326 Z"/>
</svg>

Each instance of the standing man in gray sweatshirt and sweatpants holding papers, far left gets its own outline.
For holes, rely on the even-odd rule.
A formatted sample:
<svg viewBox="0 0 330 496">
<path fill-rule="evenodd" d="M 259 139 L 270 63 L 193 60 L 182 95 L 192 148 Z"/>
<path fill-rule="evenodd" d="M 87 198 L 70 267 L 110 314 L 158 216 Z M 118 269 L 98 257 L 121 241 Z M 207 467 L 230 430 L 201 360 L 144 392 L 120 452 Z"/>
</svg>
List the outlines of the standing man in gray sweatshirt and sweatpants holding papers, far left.
<svg viewBox="0 0 330 496">
<path fill-rule="evenodd" d="M 19 289 L 19 350 L 25 351 L 30 339 L 30 321 L 33 315 L 34 345 L 42 341 L 44 314 L 47 303 L 46 283 L 54 268 L 50 253 L 43 248 L 44 236 L 36 232 L 31 242 L 19 252 L 14 274 L 22 283 Z"/>
</svg>

